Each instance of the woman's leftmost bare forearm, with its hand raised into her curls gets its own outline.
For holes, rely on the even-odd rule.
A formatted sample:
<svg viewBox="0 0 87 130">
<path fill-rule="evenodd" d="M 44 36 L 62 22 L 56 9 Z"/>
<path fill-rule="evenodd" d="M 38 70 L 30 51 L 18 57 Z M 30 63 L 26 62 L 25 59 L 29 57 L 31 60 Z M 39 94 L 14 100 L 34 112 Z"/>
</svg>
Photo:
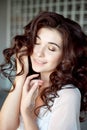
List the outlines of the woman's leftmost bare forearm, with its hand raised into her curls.
<svg viewBox="0 0 87 130">
<path fill-rule="evenodd" d="M 22 90 L 23 86 L 26 80 L 26 75 L 29 71 L 29 65 L 28 65 L 28 56 L 22 55 L 23 52 L 21 52 L 21 60 L 24 64 L 24 73 L 20 76 L 16 76 L 14 84 L 15 89 L 10 92 L 2 106 L 2 109 L 0 111 L 1 116 L 1 122 L 0 122 L 0 128 L 1 130 L 16 130 L 19 125 L 19 116 L 20 116 L 20 104 L 21 104 L 21 96 L 22 96 Z M 21 65 L 19 62 L 19 56 L 15 55 L 16 63 L 17 63 L 17 73 L 21 70 Z M 13 86 L 12 86 L 13 88 Z M 11 89 L 12 89 L 11 88 Z M 8 118 L 10 115 L 10 118 Z M 6 125 L 5 125 L 6 124 Z"/>
</svg>

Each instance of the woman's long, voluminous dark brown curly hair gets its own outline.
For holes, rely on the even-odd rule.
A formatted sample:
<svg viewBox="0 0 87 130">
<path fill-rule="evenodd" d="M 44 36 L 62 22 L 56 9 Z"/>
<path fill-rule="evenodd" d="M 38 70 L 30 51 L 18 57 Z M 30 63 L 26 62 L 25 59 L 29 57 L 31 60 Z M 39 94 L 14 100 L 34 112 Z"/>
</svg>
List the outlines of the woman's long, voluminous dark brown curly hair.
<svg viewBox="0 0 87 130">
<path fill-rule="evenodd" d="M 87 113 L 87 36 L 75 21 L 54 12 L 41 12 L 24 27 L 24 34 L 15 36 L 11 47 L 3 51 L 5 63 L 0 65 L 1 72 L 11 80 L 12 72 L 16 68 L 14 55 L 17 55 L 21 52 L 21 48 L 26 46 L 25 55 L 30 56 L 37 31 L 42 27 L 54 28 L 62 34 L 63 56 L 60 64 L 50 75 L 52 85 L 42 91 L 41 99 L 50 109 L 49 102 L 53 102 L 54 98 L 58 96 L 58 90 L 62 89 L 63 85 L 73 84 L 81 92 L 81 113 L 85 115 Z M 17 75 L 23 74 L 21 57 L 22 55 L 18 58 L 22 69 Z"/>
</svg>

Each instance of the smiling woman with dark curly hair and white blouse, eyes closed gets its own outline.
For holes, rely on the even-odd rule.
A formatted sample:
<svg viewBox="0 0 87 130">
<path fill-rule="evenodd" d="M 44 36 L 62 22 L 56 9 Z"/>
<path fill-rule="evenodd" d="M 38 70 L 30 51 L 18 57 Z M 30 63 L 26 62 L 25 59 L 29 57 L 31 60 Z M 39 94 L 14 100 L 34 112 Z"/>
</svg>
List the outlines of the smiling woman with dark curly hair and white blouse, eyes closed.
<svg viewBox="0 0 87 130">
<path fill-rule="evenodd" d="M 1 72 L 11 80 L 16 68 L 16 76 L 0 130 L 80 130 L 87 112 L 87 36 L 80 25 L 42 12 L 4 56 Z"/>
</svg>

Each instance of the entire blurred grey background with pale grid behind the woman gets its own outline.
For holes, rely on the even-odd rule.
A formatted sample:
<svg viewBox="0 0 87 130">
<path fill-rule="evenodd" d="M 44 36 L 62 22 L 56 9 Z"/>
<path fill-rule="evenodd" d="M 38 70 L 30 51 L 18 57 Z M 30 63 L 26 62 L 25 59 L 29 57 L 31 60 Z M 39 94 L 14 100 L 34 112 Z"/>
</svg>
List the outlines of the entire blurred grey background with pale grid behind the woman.
<svg viewBox="0 0 87 130">
<path fill-rule="evenodd" d="M 2 50 L 41 11 L 55 11 L 75 20 L 87 34 L 87 0 L 0 0 L 0 63 Z M 9 88 L 11 84 L 7 79 L 0 79 L 0 107 L 6 97 L 2 92 L 4 86 Z M 87 122 L 81 123 L 81 128 L 87 130 Z"/>
</svg>

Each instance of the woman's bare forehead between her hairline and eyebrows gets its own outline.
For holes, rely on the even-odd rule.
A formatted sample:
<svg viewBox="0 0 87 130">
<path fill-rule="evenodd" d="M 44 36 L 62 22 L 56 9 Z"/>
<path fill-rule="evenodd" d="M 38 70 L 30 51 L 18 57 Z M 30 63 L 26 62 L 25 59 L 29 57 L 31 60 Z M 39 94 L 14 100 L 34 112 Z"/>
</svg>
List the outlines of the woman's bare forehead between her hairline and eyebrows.
<svg viewBox="0 0 87 130">
<path fill-rule="evenodd" d="M 62 35 L 58 30 L 53 28 L 41 28 L 38 30 L 37 36 L 40 40 L 46 42 L 62 43 Z"/>
</svg>

